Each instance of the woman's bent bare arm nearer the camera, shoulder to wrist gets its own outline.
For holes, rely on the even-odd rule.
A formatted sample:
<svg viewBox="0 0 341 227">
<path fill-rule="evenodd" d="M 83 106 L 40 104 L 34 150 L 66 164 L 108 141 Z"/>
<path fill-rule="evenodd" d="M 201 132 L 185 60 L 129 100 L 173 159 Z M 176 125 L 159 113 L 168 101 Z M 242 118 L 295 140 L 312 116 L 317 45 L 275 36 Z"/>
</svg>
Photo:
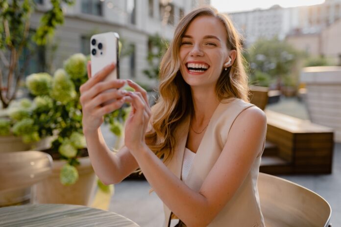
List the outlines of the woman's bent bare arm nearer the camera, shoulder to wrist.
<svg viewBox="0 0 341 227">
<path fill-rule="evenodd" d="M 146 117 L 146 113 L 139 112 L 144 105 L 131 96 L 136 109 L 136 116 L 132 118 L 136 117 L 134 120 L 140 123 Z M 248 108 L 242 112 L 233 123 L 221 155 L 199 192 L 193 191 L 173 175 L 146 145 L 134 146 L 131 144 L 133 141 L 126 144 L 129 144 L 130 152 L 160 199 L 187 226 L 199 227 L 207 226 L 244 182 L 263 148 L 265 134 L 266 116 L 261 110 Z M 244 138 L 247 138 L 247 143 Z"/>
</svg>

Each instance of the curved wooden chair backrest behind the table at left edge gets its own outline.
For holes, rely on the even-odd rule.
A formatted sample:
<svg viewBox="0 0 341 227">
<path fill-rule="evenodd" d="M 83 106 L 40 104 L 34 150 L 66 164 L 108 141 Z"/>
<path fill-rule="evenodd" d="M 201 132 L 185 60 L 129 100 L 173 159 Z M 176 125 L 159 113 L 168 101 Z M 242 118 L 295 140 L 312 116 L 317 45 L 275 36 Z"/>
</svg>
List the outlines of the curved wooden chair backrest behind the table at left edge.
<svg viewBox="0 0 341 227">
<path fill-rule="evenodd" d="M 27 204 L 31 186 L 52 170 L 52 158 L 40 151 L 0 153 L 0 207 Z"/>
</svg>

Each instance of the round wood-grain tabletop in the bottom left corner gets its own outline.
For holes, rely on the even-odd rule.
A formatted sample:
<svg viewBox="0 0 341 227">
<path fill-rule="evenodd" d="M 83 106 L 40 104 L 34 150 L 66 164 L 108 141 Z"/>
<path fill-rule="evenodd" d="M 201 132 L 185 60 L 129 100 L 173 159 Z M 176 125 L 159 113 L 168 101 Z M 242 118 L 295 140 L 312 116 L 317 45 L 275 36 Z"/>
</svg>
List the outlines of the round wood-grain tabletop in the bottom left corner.
<svg viewBox="0 0 341 227">
<path fill-rule="evenodd" d="M 0 208 L 0 227 L 139 227 L 114 212 L 81 205 L 29 204 Z"/>
</svg>

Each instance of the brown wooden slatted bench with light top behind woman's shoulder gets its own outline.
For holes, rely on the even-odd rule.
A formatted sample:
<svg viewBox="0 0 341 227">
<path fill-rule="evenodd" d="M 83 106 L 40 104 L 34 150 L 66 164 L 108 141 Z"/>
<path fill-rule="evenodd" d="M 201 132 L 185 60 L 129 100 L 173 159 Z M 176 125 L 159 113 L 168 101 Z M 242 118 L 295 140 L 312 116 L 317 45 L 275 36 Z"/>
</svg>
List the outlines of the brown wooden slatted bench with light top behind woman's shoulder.
<svg viewBox="0 0 341 227">
<path fill-rule="evenodd" d="M 266 147 L 260 167 L 269 174 L 327 174 L 332 172 L 333 129 L 266 110 Z M 272 144 L 272 145 L 271 145 Z M 272 146 L 272 148 L 271 148 Z M 269 147 L 272 149 L 269 152 Z M 277 147 L 277 152 L 274 150 Z M 276 154 L 277 153 L 277 154 Z"/>
</svg>

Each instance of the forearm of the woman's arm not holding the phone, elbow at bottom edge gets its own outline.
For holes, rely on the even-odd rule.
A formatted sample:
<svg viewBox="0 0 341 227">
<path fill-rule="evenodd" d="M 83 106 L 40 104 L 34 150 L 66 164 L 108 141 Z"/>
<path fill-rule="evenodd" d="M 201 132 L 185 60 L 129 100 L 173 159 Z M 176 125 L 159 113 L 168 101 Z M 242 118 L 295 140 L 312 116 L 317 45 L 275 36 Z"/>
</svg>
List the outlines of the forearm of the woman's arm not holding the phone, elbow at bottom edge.
<svg viewBox="0 0 341 227">
<path fill-rule="evenodd" d="M 159 198 L 179 219 L 189 227 L 209 224 L 209 206 L 203 195 L 178 179 L 147 147 L 133 155 Z"/>
</svg>

